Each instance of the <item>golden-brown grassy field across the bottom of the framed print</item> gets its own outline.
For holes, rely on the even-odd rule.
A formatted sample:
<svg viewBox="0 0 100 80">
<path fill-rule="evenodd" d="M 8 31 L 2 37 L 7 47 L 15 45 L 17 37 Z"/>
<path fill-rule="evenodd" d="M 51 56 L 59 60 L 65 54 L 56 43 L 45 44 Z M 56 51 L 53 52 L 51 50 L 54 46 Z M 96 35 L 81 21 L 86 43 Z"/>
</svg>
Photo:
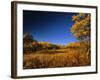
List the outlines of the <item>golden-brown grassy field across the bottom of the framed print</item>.
<svg viewBox="0 0 100 80">
<path fill-rule="evenodd" d="M 42 50 L 23 54 L 23 68 L 55 68 L 91 65 L 90 53 L 82 48 Z"/>
</svg>

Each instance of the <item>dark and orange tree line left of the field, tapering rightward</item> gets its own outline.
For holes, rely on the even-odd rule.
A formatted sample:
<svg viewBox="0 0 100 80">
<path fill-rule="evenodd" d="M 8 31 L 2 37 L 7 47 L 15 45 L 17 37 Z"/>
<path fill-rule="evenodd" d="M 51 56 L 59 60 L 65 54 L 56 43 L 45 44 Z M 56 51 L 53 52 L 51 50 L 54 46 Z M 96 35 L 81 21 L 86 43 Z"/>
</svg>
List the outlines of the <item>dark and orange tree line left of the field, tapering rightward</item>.
<svg viewBox="0 0 100 80">
<path fill-rule="evenodd" d="M 23 38 L 23 51 L 27 52 L 36 52 L 41 50 L 54 50 L 62 48 L 61 45 L 52 44 L 49 42 L 39 42 L 34 39 L 34 37 L 27 33 Z"/>
</svg>

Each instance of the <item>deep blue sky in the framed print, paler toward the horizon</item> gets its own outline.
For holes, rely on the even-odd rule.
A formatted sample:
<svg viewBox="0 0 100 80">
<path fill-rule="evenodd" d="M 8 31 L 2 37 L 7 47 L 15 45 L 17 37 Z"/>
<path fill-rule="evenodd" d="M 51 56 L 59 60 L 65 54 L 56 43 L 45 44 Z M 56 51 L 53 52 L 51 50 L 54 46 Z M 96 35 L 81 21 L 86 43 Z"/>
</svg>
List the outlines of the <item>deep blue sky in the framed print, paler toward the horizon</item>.
<svg viewBox="0 0 100 80">
<path fill-rule="evenodd" d="M 23 34 L 31 33 L 42 42 L 66 45 L 78 41 L 70 32 L 72 15 L 77 13 L 23 11 Z"/>
</svg>

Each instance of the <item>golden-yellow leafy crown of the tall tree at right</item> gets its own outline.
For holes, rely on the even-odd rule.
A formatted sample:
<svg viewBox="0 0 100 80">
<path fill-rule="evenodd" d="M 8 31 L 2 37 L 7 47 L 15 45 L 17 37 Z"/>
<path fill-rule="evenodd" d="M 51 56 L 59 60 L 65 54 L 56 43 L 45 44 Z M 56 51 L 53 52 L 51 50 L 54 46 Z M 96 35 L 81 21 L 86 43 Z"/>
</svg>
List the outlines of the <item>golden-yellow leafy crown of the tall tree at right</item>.
<svg viewBox="0 0 100 80">
<path fill-rule="evenodd" d="M 79 40 L 90 39 L 91 15 L 80 13 L 72 16 L 74 24 L 71 28 L 73 35 Z"/>
</svg>

